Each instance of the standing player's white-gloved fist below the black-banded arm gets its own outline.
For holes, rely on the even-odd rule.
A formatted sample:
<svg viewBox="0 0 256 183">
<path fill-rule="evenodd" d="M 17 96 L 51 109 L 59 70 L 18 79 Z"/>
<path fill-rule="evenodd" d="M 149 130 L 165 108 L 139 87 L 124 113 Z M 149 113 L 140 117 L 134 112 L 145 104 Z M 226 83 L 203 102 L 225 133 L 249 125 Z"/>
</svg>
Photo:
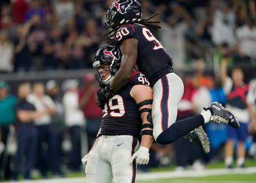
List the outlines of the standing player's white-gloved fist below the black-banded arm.
<svg viewBox="0 0 256 183">
<path fill-rule="evenodd" d="M 149 151 L 148 148 L 141 146 L 139 148 L 139 150 L 132 155 L 131 162 L 133 162 L 133 160 L 136 159 L 136 162 L 138 164 L 148 164 L 148 162 L 149 162 L 149 153 L 148 153 L 148 151 Z"/>
</svg>

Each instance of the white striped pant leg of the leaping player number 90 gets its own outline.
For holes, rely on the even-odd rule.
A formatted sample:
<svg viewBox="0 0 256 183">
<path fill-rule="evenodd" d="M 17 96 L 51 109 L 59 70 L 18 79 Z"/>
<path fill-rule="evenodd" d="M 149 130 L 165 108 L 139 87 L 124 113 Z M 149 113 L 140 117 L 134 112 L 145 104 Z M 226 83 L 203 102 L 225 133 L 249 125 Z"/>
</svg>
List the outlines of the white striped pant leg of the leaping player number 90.
<svg viewBox="0 0 256 183">
<path fill-rule="evenodd" d="M 181 78 L 174 72 L 159 79 L 154 87 L 152 105 L 153 136 L 155 140 L 177 119 L 178 104 L 184 93 Z"/>
</svg>

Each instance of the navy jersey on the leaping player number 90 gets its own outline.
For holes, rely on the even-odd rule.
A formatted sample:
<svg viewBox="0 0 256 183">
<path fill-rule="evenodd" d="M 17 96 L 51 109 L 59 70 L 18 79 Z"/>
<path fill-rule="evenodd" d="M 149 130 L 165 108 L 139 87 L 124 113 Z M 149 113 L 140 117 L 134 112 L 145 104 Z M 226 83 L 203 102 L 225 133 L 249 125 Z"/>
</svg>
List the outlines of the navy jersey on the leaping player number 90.
<svg viewBox="0 0 256 183">
<path fill-rule="evenodd" d="M 137 23 L 123 25 L 116 31 L 115 43 L 120 46 L 130 38 L 139 41 L 137 65 L 151 86 L 165 74 L 173 72 L 171 57 L 149 29 Z"/>
</svg>

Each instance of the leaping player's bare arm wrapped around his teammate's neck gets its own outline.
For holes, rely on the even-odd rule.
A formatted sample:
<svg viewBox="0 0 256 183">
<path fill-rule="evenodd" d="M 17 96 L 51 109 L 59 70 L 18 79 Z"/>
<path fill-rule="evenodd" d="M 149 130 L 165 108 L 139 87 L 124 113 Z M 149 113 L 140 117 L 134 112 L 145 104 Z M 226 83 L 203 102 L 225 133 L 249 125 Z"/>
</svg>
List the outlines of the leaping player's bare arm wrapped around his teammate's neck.
<svg viewBox="0 0 256 183">
<path fill-rule="evenodd" d="M 110 88 L 117 92 L 123 88 L 129 81 L 135 68 L 138 57 L 138 40 L 131 38 L 126 39 L 120 46 L 122 52 L 122 61 L 120 69 L 117 71 Z"/>
</svg>

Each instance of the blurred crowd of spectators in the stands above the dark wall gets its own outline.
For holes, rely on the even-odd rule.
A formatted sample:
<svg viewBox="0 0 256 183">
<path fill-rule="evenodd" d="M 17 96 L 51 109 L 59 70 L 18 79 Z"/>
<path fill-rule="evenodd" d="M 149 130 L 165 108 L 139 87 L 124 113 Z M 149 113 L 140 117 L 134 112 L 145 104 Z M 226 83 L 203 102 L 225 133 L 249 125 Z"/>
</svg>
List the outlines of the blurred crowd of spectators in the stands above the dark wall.
<svg viewBox="0 0 256 183">
<path fill-rule="evenodd" d="M 91 68 L 106 45 L 105 13 L 112 0 L 3 0 L 0 72 Z M 209 66 L 222 56 L 230 64 L 255 65 L 255 0 L 141 0 L 144 18 L 158 13 L 155 32 L 175 68 L 195 58 Z M 225 49 L 225 53 L 222 52 Z"/>
</svg>

